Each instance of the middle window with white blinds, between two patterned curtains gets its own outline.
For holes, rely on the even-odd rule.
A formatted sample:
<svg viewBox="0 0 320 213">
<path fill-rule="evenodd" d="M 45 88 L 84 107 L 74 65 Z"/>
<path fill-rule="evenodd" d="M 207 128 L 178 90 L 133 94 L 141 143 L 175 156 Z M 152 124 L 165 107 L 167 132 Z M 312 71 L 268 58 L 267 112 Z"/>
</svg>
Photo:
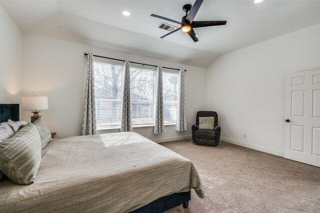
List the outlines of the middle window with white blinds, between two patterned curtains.
<svg viewBox="0 0 320 213">
<path fill-rule="evenodd" d="M 132 125 L 154 124 L 155 70 L 130 67 Z"/>
</svg>

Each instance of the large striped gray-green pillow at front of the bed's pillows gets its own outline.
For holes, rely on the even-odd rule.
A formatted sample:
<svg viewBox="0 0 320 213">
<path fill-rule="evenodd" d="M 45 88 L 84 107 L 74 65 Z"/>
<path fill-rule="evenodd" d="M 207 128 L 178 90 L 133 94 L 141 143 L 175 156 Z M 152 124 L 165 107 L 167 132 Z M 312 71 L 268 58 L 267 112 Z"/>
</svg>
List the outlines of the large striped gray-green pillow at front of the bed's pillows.
<svg viewBox="0 0 320 213">
<path fill-rule="evenodd" d="M 1 171 L 17 184 L 34 182 L 41 161 L 41 139 L 32 123 L 0 142 Z"/>
</svg>

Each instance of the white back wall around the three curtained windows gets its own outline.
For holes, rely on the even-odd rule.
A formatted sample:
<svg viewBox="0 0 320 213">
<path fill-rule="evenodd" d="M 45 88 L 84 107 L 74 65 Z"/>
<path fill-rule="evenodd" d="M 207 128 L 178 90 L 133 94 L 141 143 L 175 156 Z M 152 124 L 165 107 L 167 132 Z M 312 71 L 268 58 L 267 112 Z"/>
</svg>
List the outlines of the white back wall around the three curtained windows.
<svg viewBox="0 0 320 213">
<path fill-rule="evenodd" d="M 153 134 L 153 127 L 133 130 L 157 142 L 191 137 L 191 125 L 195 121 L 196 111 L 202 110 L 205 102 L 204 68 L 25 33 L 22 45 L 21 93 L 48 96 L 49 109 L 40 112 L 41 119 L 52 132 L 57 132 L 57 137 L 80 135 L 81 132 L 86 67 L 84 52 L 187 69 L 185 73 L 187 131 L 177 132 L 174 130 L 175 126 L 165 126 L 165 133 L 160 135 Z M 22 111 L 22 118 L 29 120 L 31 114 L 29 111 Z M 119 130 L 100 132 L 113 131 Z"/>
</svg>

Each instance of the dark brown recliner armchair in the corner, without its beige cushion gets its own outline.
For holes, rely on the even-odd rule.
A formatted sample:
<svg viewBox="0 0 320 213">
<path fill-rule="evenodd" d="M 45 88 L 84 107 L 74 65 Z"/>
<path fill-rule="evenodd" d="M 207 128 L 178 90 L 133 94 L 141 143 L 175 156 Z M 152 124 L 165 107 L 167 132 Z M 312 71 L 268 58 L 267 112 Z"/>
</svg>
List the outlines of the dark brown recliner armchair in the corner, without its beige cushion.
<svg viewBox="0 0 320 213">
<path fill-rule="evenodd" d="M 199 117 L 214 117 L 213 129 L 199 129 Z M 215 111 L 198 111 L 195 124 L 192 125 L 191 129 L 192 142 L 195 144 L 219 145 L 221 127 L 218 125 L 218 114 Z"/>
</svg>

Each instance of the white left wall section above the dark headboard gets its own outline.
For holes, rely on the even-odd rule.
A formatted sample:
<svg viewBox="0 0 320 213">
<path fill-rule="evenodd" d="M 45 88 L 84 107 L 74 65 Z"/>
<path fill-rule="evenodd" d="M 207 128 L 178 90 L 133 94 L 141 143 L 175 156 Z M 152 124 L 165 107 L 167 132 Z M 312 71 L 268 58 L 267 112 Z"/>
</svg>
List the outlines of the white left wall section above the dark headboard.
<svg viewBox="0 0 320 213">
<path fill-rule="evenodd" d="M 0 6 L 0 103 L 20 103 L 22 33 Z"/>
</svg>

